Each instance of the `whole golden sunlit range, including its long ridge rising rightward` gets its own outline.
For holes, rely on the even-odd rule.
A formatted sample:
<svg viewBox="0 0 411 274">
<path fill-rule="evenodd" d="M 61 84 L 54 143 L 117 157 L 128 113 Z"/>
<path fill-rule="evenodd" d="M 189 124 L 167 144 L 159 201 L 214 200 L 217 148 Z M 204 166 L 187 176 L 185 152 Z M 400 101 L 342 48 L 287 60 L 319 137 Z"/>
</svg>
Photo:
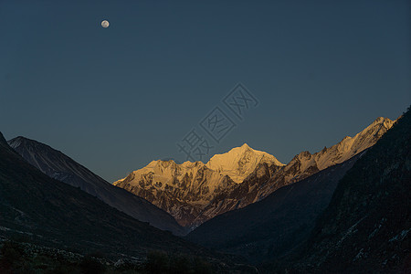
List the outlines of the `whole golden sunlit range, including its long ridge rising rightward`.
<svg viewBox="0 0 411 274">
<path fill-rule="evenodd" d="M 373 146 L 393 123 L 380 117 L 354 137 L 347 136 L 319 153 L 302 152 L 287 165 L 244 144 L 216 154 L 206 164 L 153 161 L 114 184 L 163 208 L 180 225 L 195 228 L 352 158 Z"/>
</svg>

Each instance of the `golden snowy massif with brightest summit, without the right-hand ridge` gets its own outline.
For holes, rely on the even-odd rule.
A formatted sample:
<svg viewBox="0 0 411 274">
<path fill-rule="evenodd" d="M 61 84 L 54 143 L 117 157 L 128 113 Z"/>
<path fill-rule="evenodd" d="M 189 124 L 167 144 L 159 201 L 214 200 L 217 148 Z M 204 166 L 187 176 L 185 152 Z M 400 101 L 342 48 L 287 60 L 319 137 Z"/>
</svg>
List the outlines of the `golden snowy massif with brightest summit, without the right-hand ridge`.
<svg viewBox="0 0 411 274">
<path fill-rule="evenodd" d="M 235 189 L 261 165 L 274 170 L 283 164 L 269 153 L 258 152 L 244 144 L 228 153 L 215 155 L 206 164 L 153 161 L 114 184 L 163 208 L 180 225 L 193 227 L 220 211 L 225 212 L 225 205 L 219 205 L 213 212 L 203 213 L 211 201 L 218 201 L 228 189 Z M 265 171 L 258 175 L 266 176 Z"/>
</svg>

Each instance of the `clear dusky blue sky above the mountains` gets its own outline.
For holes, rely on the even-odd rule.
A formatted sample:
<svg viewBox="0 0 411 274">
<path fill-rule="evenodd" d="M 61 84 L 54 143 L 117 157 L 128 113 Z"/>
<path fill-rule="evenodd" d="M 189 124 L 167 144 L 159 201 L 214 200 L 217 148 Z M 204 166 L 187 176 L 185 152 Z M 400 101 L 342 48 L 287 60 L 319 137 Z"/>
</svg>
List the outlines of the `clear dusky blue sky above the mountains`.
<svg viewBox="0 0 411 274">
<path fill-rule="evenodd" d="M 203 162 L 247 142 L 288 163 L 406 111 L 409 10 L 0 0 L 0 132 L 45 142 L 109 182 L 153 160 L 183 162 L 199 145 Z"/>
</svg>

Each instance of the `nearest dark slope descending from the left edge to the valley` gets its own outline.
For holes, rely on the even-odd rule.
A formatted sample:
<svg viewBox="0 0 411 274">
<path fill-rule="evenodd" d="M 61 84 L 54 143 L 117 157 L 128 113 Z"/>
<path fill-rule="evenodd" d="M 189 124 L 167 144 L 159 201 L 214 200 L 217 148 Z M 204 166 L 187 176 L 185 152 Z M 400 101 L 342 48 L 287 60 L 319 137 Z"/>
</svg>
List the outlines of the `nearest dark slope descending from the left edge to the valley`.
<svg viewBox="0 0 411 274">
<path fill-rule="evenodd" d="M 0 237 L 16 235 L 34 244 L 82 254 L 98 250 L 111 257 L 142 258 L 152 249 L 210 254 L 41 173 L 0 133 Z"/>
</svg>

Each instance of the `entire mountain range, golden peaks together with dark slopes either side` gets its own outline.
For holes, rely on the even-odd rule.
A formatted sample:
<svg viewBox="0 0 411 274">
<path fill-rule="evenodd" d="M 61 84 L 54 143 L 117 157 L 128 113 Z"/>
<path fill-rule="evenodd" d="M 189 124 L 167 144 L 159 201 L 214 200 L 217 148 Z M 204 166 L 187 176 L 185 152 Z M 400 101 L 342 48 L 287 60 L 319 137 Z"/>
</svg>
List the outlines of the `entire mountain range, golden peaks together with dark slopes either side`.
<svg viewBox="0 0 411 274">
<path fill-rule="evenodd" d="M 153 161 L 115 185 L 44 143 L 0 133 L 0 240 L 112 257 L 163 250 L 225 271 L 230 254 L 269 273 L 407 273 L 410 130 L 407 111 L 287 164 L 245 143 L 208 163 Z M 184 239 L 163 231 L 187 228 Z"/>
</svg>

